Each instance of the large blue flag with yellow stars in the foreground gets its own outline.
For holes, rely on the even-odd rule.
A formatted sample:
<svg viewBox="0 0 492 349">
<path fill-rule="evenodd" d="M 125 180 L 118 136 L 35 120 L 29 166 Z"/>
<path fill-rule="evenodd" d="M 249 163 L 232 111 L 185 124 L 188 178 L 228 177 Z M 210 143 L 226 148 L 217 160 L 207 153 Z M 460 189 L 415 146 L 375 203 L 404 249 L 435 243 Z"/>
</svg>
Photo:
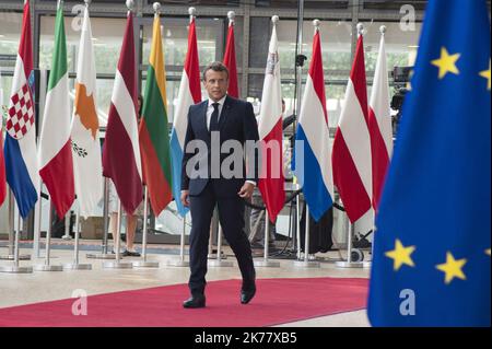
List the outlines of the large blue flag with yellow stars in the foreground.
<svg viewBox="0 0 492 349">
<path fill-rule="evenodd" d="M 373 326 L 490 326 L 485 0 L 431 0 L 376 218 Z"/>
</svg>

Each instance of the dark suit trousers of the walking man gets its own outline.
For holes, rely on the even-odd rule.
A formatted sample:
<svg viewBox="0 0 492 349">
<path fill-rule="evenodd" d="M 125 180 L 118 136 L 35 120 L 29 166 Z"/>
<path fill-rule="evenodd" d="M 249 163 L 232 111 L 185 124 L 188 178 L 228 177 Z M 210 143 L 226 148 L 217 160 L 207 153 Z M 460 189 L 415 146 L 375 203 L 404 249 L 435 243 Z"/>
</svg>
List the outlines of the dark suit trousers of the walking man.
<svg viewBox="0 0 492 349">
<path fill-rule="evenodd" d="M 210 223 L 216 205 L 222 231 L 239 265 L 243 290 L 248 291 L 255 287 L 256 274 L 251 246 L 244 231 L 245 203 L 239 196 L 218 197 L 213 181 L 215 179 L 209 181 L 200 195 L 189 196 L 192 225 L 189 237 L 191 275 L 188 287 L 191 294 L 204 293 Z"/>
</svg>

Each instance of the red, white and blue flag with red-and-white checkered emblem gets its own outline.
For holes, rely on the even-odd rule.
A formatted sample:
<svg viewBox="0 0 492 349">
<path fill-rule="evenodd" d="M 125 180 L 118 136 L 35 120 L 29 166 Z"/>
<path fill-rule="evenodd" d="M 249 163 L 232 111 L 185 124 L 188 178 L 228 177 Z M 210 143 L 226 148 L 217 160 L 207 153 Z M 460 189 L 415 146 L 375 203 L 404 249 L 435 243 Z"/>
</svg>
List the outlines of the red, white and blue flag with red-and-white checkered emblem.
<svg viewBox="0 0 492 349">
<path fill-rule="evenodd" d="M 4 143 L 7 182 L 23 218 L 27 217 L 39 197 L 36 124 L 34 123 L 34 98 L 31 88 L 32 73 L 31 12 L 30 2 L 25 1 Z"/>
</svg>

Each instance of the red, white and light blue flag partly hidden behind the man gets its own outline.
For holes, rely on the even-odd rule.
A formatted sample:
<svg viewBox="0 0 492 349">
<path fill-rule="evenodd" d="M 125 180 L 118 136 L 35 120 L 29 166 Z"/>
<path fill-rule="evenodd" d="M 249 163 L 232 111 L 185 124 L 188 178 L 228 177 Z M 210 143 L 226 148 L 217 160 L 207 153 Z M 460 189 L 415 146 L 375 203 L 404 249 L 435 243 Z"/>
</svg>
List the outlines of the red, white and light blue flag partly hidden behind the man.
<svg viewBox="0 0 492 349">
<path fill-rule="evenodd" d="M 195 16 L 191 15 L 188 33 L 188 53 L 178 92 L 178 104 L 173 120 L 171 133 L 171 160 L 173 163 L 173 196 L 176 207 L 183 217 L 188 209 L 183 206 L 181 196 L 181 162 L 185 152 L 185 136 L 188 127 L 188 109 L 201 101 L 200 67 L 198 65 L 197 32 Z"/>
</svg>

